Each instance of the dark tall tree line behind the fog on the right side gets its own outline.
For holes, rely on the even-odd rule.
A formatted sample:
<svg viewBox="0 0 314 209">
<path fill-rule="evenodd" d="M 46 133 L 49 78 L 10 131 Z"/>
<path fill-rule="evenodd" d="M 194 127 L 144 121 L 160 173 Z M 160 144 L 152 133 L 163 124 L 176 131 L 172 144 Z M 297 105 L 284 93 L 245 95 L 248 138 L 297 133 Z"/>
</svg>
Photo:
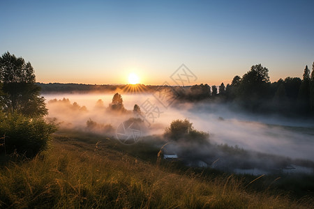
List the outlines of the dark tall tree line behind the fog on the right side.
<svg viewBox="0 0 314 209">
<path fill-rule="evenodd" d="M 224 102 L 237 104 L 248 111 L 285 115 L 314 114 L 314 63 L 312 72 L 304 69 L 303 78 L 286 77 L 269 81 L 269 70 L 253 65 L 242 77 L 236 75 L 231 84 L 200 84 L 179 93 L 179 100 Z"/>
</svg>

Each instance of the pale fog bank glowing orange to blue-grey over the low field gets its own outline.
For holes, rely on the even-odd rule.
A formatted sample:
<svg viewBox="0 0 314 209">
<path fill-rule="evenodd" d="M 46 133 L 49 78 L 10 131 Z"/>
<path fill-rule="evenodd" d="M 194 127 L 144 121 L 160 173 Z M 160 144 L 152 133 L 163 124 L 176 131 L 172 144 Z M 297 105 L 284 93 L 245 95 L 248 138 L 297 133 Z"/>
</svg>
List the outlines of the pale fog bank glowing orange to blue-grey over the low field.
<svg viewBox="0 0 314 209">
<path fill-rule="evenodd" d="M 291 158 L 314 160 L 314 125 L 311 121 L 301 119 L 286 119 L 277 116 L 256 116 L 244 111 L 230 110 L 223 104 L 208 103 L 179 103 L 174 102 L 167 109 L 147 94 L 122 94 L 126 114 L 117 114 L 106 111 L 112 102 L 112 94 L 47 94 L 47 108 L 49 117 L 63 121 L 61 125 L 84 128 L 91 119 L 103 125 L 112 125 L 112 135 L 117 126 L 133 116 L 134 104 L 144 109 L 142 104 L 149 100 L 159 108 L 159 117 L 154 122 L 148 121 L 151 126 L 145 134 L 163 134 L 165 127 L 174 119 L 188 118 L 197 130 L 209 132 L 211 143 L 239 146 L 247 150 L 262 153 L 283 155 Z M 68 102 L 49 102 L 63 100 Z M 101 100 L 101 101 L 99 101 Z M 70 103 L 69 103 L 70 102 Z M 77 104 L 73 105 L 73 102 Z M 67 103 L 67 104 L 66 104 Z M 71 107 L 66 105 L 71 104 Z M 83 107 L 84 106 L 84 107 Z M 104 126 L 103 126 L 104 127 Z"/>
</svg>

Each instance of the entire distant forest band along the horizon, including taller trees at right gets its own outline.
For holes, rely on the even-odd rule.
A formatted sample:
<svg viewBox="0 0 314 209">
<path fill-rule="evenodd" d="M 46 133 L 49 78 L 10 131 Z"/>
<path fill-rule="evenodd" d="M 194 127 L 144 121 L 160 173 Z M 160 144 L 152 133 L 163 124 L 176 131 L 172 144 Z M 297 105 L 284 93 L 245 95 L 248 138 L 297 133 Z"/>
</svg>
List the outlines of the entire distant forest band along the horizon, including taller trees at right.
<svg viewBox="0 0 314 209">
<path fill-rule="evenodd" d="M 177 102 L 218 102 L 231 104 L 253 113 L 282 114 L 285 116 L 314 116 L 314 63 L 312 72 L 306 68 L 302 79 L 286 77 L 277 82 L 269 81 L 269 70 L 261 64 L 253 65 L 242 77 L 236 75 L 231 84 L 209 86 L 150 86 L 91 85 L 91 84 L 41 84 L 42 93 L 154 93 L 172 91 Z"/>
</svg>

